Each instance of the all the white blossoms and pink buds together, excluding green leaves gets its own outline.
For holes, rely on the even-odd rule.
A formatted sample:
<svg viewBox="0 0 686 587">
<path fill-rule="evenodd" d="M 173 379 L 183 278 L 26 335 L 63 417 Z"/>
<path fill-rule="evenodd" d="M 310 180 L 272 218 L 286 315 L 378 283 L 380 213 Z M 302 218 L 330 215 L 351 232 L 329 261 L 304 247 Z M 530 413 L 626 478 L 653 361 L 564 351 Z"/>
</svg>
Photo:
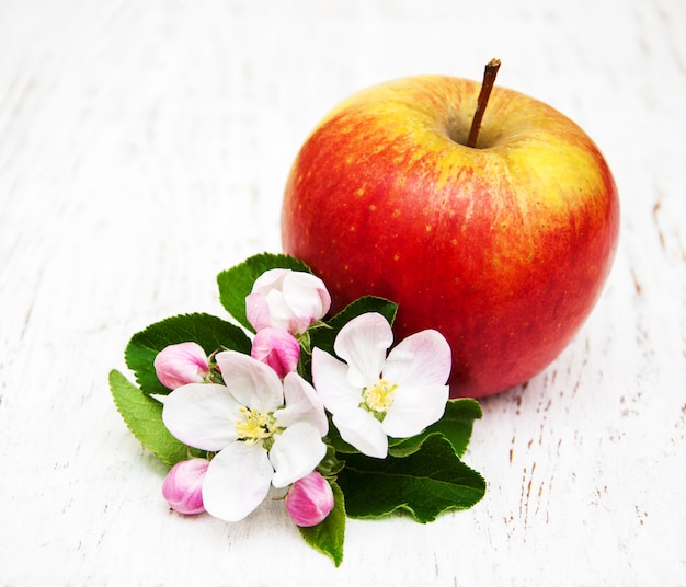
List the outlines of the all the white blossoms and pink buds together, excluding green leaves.
<svg viewBox="0 0 686 587">
<path fill-rule="evenodd" d="M 436 331 L 405 338 L 387 356 L 390 324 L 379 313 L 364 313 L 335 337 L 340 358 L 312 349 L 313 384 L 297 372 L 304 352 L 298 336 L 330 304 L 318 277 L 270 269 L 245 299 L 255 330 L 250 356 L 220 350 L 210 359 L 194 342 L 157 355 L 157 376 L 173 390 L 163 400 L 164 425 L 211 454 L 170 471 L 163 493 L 173 509 L 238 521 L 270 486 L 290 487 L 290 517 L 298 526 L 315 526 L 333 508 L 331 487 L 317 472 L 327 454 L 327 412 L 343 440 L 380 459 L 388 453 L 388 436 L 411 437 L 441 418 L 450 348 Z"/>
</svg>

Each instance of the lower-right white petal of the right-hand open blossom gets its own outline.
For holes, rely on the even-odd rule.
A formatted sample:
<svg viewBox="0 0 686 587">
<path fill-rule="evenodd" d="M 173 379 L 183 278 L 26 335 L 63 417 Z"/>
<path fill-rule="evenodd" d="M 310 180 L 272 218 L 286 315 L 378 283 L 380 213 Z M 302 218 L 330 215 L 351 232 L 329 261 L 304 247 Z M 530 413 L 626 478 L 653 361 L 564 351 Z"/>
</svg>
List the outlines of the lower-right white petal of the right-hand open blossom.
<svg viewBox="0 0 686 587">
<path fill-rule="evenodd" d="M 393 438 L 409 438 L 441 419 L 449 395 L 448 385 L 399 387 L 386 412 L 382 428 Z"/>
</svg>

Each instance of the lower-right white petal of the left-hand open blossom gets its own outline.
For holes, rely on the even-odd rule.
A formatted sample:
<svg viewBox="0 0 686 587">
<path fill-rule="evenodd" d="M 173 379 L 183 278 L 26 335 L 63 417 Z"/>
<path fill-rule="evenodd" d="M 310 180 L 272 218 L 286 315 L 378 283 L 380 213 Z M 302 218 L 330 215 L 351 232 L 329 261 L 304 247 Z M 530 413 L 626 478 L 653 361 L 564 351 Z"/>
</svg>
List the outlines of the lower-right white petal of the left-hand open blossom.
<svg viewBox="0 0 686 587">
<path fill-rule="evenodd" d="M 274 467 L 275 487 L 285 487 L 304 477 L 320 463 L 327 454 L 319 430 L 299 422 L 275 437 L 270 451 Z"/>
</svg>

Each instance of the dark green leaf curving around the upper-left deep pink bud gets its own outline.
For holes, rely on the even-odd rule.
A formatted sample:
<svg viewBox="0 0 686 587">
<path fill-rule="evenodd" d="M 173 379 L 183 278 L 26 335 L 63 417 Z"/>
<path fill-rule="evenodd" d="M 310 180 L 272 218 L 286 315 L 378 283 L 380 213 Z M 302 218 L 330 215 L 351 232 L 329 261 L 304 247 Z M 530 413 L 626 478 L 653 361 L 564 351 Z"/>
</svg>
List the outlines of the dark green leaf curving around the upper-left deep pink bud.
<svg viewBox="0 0 686 587">
<path fill-rule="evenodd" d="M 251 348 L 250 338 L 239 326 L 209 314 L 183 314 L 151 324 L 132 337 L 124 353 L 126 365 L 145 394 L 170 392 L 157 378 L 155 357 L 168 345 L 190 341 L 201 345 L 207 355 L 222 348 L 250 354 Z"/>
</svg>

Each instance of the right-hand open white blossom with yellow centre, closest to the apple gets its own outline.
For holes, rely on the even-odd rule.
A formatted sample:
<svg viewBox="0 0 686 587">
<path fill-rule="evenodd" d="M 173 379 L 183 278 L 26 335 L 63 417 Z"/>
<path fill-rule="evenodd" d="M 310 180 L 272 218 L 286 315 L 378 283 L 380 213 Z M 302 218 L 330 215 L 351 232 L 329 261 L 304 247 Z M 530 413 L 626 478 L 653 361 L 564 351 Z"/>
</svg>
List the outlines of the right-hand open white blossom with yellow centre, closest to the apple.
<svg viewBox="0 0 686 587">
<path fill-rule="evenodd" d="M 333 349 L 312 352 L 312 378 L 341 437 L 368 457 L 385 458 L 388 436 L 407 438 L 438 421 L 448 400 L 450 347 L 425 330 L 393 342 L 388 321 L 366 313 L 341 329 Z M 345 361 L 345 362 L 344 362 Z"/>
</svg>

